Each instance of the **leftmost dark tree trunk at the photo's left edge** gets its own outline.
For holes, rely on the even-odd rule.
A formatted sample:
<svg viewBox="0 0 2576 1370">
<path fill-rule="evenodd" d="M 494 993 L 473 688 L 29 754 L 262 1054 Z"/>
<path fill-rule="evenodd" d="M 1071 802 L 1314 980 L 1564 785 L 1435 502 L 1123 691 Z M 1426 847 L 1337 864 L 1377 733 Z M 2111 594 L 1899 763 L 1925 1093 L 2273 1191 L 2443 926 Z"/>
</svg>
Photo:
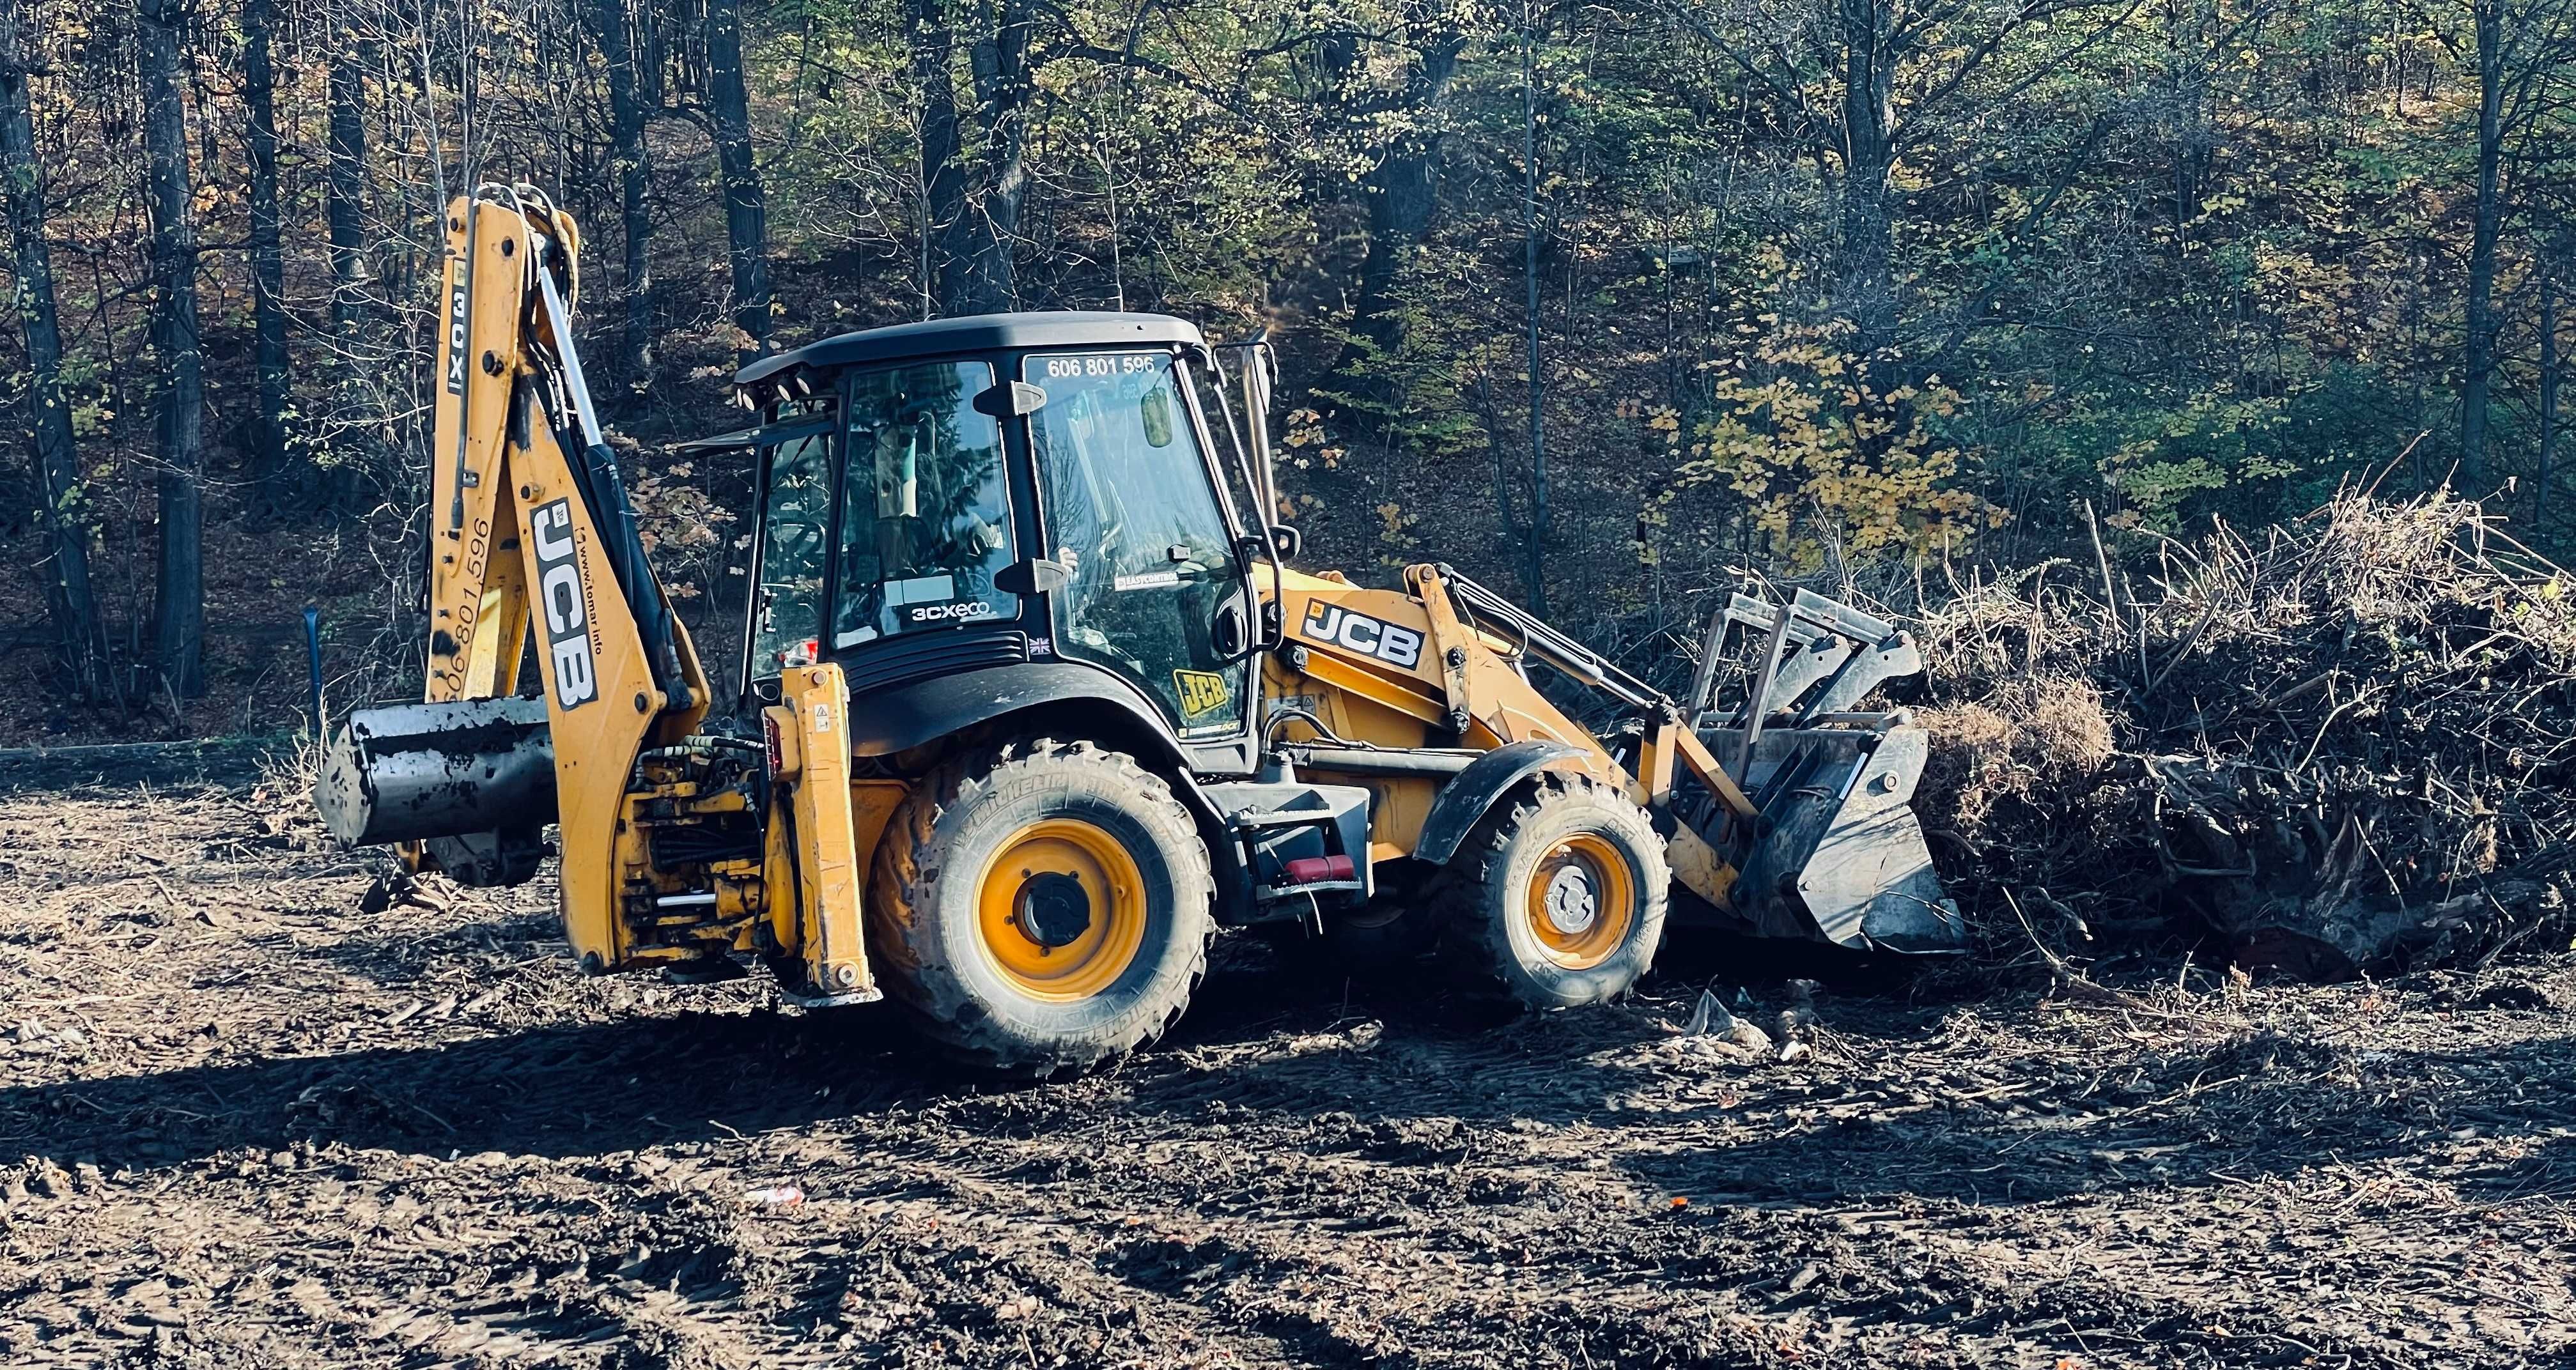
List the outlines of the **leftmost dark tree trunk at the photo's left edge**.
<svg viewBox="0 0 2576 1370">
<path fill-rule="evenodd" d="M 49 564 L 44 608 L 54 621 L 54 652 L 77 698 L 111 698 L 108 633 L 90 595 L 90 523 L 80 492 L 80 451 L 72 446 L 72 409 L 62 402 L 62 322 L 54 312 L 54 255 L 44 242 L 44 165 L 36 157 L 36 118 L 26 80 L 33 62 L 18 0 L 0 0 L 0 183 L 8 191 L 8 227 L 15 247 L 18 322 L 26 330 L 28 427 L 36 440 L 36 489 L 44 494 Z"/>
</svg>

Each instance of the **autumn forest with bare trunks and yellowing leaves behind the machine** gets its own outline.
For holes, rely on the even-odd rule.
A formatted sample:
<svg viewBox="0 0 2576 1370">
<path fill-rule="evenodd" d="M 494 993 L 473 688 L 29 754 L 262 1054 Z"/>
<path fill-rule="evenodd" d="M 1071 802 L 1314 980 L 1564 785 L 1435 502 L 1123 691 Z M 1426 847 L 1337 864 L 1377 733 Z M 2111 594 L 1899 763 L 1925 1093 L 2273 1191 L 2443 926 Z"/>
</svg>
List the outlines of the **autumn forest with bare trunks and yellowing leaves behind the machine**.
<svg viewBox="0 0 2576 1370">
<path fill-rule="evenodd" d="M 1270 330 L 1311 567 L 1659 670 L 1749 574 L 2154 567 L 2445 482 L 2576 543 L 2576 0 L 0 0 L 0 744 L 417 695 L 446 196 L 729 672 L 732 368 Z"/>
</svg>

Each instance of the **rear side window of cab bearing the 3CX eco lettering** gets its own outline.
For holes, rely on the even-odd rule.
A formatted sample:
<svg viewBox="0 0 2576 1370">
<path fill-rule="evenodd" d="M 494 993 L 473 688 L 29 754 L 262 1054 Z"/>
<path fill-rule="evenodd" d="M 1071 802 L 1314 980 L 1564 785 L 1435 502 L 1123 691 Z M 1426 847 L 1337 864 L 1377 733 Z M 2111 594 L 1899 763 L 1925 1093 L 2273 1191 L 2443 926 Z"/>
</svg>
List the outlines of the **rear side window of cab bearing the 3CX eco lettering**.
<svg viewBox="0 0 2576 1370">
<path fill-rule="evenodd" d="M 979 361 L 850 379 L 835 649 L 1020 613 L 992 585 L 1012 538 L 1002 425 L 974 409 L 989 386 Z"/>
</svg>

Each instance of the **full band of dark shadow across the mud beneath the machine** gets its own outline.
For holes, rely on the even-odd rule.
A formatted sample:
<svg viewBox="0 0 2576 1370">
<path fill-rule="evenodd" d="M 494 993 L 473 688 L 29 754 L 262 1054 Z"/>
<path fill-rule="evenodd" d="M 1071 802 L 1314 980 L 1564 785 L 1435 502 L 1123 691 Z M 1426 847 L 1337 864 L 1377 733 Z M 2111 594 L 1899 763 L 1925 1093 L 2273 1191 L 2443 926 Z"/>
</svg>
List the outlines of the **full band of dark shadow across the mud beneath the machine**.
<svg viewBox="0 0 2576 1370">
<path fill-rule="evenodd" d="M 1942 1015 L 1893 997 L 1837 1007 L 1847 1043 L 1888 1053 L 1922 1043 Z M 562 1159 L 863 1123 L 971 1094 L 1020 1094 L 1028 1102 L 1010 1112 L 1038 1128 L 1090 1112 L 1195 1125 L 1221 1100 L 1229 1112 L 1247 1110 L 1234 1118 L 1267 1115 L 1260 1125 L 1278 1128 L 1283 1146 L 1394 1164 L 1463 1164 L 1476 1133 L 1520 1123 L 1646 1128 L 1654 1146 L 1620 1156 L 1620 1169 L 1695 1203 L 1994 1205 L 2398 1156 L 2421 1149 L 2427 1125 L 2458 1120 L 2496 1136 L 2576 1120 L 2576 1105 L 2494 1084 L 2576 1082 L 2576 1038 L 2517 1046 L 2470 1074 L 2455 1071 L 2468 1058 L 2442 1053 L 2372 1066 L 2378 1079 L 2460 1074 L 2445 1118 L 2409 1112 L 2324 1058 L 2275 1066 L 2233 1043 L 2141 1053 L 2130 1064 L 2151 1079 L 2192 1089 L 2099 1120 L 2087 1112 L 2102 1105 L 2043 1092 L 2027 1112 L 1945 1102 L 1803 1123 L 1780 1120 L 1780 1110 L 1816 1102 L 1801 1071 L 1692 1064 L 1659 1053 L 1669 1040 L 1664 1007 L 1499 1017 L 1422 986 L 1355 989 L 1345 1002 L 1314 976 L 1270 966 L 1260 948 L 1234 948 L 1159 1048 L 1072 1084 L 961 1074 L 886 1009 L 683 1009 L 420 1048 L 0 1087 L 0 1149 L 108 1169 L 299 1141 Z M 1744 1125 L 1759 1115 L 1770 1123 Z M 2576 1190 L 2576 1156 L 2563 1138 L 2543 1141 L 2473 1185 L 2496 1197 L 2563 1195 Z"/>
</svg>

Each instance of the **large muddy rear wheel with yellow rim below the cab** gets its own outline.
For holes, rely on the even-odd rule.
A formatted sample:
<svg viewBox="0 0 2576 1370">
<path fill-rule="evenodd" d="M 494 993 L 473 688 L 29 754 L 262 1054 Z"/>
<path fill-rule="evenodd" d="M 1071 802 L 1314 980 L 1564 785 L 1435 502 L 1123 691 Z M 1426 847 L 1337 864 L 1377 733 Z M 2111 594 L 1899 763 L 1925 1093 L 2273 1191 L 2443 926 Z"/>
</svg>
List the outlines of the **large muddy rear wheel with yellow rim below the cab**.
<svg viewBox="0 0 2576 1370">
<path fill-rule="evenodd" d="M 1159 1038 L 1208 973 L 1216 878 L 1172 788 L 1048 739 L 930 773 L 886 824 L 868 950 L 925 1035 L 1082 1071 Z"/>
</svg>

